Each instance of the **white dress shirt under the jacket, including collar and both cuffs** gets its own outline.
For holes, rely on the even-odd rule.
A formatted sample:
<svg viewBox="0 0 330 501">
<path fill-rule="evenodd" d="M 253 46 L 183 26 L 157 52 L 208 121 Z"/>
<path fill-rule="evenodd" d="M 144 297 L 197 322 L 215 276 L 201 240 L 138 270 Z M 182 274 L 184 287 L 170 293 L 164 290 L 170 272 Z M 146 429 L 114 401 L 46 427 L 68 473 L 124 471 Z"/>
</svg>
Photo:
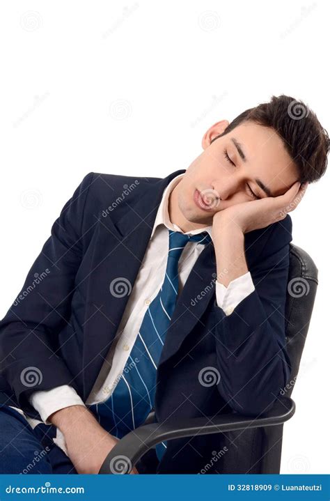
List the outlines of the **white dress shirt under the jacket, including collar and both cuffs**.
<svg viewBox="0 0 330 501">
<path fill-rule="evenodd" d="M 157 296 L 164 282 L 168 257 L 168 229 L 182 232 L 176 224 L 170 221 L 168 215 L 168 196 L 175 185 L 180 182 L 182 176 L 184 176 L 184 174 L 180 174 L 173 178 L 164 190 L 146 249 L 146 254 L 141 263 L 132 292 L 129 295 L 129 300 L 127 301 L 120 325 L 118 326 L 118 333 L 120 333 L 120 335 L 116 335 L 116 339 L 111 344 L 109 353 L 102 364 L 99 376 L 97 376 L 97 380 L 95 381 L 86 403 L 81 400 L 80 396 L 70 385 L 58 386 L 52 390 L 36 391 L 29 396 L 29 402 L 38 410 L 42 421 L 32 419 L 24 415 L 22 410 L 17 409 L 26 417 L 33 428 L 41 422 L 52 424 L 47 420 L 47 417 L 56 412 L 56 410 L 75 405 L 89 406 L 93 403 L 100 403 L 101 401 L 109 399 L 111 392 L 113 392 L 120 379 L 120 375 L 123 373 L 123 369 L 134 345 L 148 305 L 150 305 L 152 300 Z M 207 231 L 212 238 L 212 226 L 205 226 L 203 229 L 187 231 L 184 234 L 196 235 L 202 231 Z M 187 242 L 185 245 L 178 262 L 178 295 L 180 295 L 187 277 L 204 247 L 205 245 L 196 242 Z M 232 314 L 239 302 L 244 300 L 244 298 L 253 291 L 254 285 L 250 272 L 232 280 L 230 284 L 228 284 L 228 287 L 215 281 L 217 305 L 223 309 L 226 315 Z M 57 431 L 54 442 L 67 453 L 61 431 Z"/>
</svg>

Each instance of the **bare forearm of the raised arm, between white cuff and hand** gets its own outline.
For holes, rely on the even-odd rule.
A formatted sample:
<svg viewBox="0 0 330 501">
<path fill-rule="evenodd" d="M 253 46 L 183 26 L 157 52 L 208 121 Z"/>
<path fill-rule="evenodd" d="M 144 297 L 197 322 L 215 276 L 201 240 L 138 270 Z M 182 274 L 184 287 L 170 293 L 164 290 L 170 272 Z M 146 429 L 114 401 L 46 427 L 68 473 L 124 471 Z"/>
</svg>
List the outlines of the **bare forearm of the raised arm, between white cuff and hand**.
<svg viewBox="0 0 330 501">
<path fill-rule="evenodd" d="M 214 252 L 217 261 L 217 281 L 228 287 L 237 277 L 249 270 L 244 254 L 244 233 L 233 222 L 223 219 L 221 231 L 214 236 Z"/>
</svg>

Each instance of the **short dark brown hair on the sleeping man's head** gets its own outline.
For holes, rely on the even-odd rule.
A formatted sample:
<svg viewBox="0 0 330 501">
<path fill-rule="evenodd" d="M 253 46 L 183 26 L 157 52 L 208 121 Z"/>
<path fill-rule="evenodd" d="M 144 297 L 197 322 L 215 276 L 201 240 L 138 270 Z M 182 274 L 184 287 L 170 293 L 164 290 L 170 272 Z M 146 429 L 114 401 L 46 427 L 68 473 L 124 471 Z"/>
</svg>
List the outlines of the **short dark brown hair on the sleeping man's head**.
<svg viewBox="0 0 330 501">
<path fill-rule="evenodd" d="M 327 169 L 329 136 L 315 113 L 304 102 L 284 94 L 278 97 L 273 95 L 269 102 L 243 111 L 211 142 L 247 121 L 276 130 L 299 169 L 301 183 L 313 183 L 323 176 Z"/>
</svg>

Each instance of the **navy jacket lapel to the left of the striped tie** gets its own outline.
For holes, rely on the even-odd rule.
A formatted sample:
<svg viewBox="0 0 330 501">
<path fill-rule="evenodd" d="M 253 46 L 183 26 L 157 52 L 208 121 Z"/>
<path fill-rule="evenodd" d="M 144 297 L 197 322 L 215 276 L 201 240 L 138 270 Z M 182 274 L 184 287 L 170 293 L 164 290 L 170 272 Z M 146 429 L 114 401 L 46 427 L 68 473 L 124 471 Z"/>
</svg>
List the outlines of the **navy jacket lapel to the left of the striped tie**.
<svg viewBox="0 0 330 501">
<path fill-rule="evenodd" d="M 132 192 L 125 214 L 100 217 L 91 242 L 83 347 L 83 394 L 87 399 L 107 356 L 146 253 L 164 189 L 184 170 L 151 178 Z M 121 332 L 118 332 L 118 336 Z"/>
</svg>

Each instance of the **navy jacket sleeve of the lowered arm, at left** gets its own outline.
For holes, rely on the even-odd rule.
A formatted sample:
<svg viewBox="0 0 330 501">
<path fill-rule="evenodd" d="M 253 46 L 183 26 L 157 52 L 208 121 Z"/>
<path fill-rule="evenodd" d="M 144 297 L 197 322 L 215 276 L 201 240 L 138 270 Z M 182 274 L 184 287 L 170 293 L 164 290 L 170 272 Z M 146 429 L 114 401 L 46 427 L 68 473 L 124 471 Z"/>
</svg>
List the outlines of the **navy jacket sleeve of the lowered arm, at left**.
<svg viewBox="0 0 330 501">
<path fill-rule="evenodd" d="M 0 371 L 21 408 L 29 395 L 70 385 L 72 374 L 58 356 L 58 333 L 70 319 L 74 278 L 83 256 L 84 208 L 93 179 L 87 174 L 65 203 L 22 290 L 0 322 Z"/>
</svg>

